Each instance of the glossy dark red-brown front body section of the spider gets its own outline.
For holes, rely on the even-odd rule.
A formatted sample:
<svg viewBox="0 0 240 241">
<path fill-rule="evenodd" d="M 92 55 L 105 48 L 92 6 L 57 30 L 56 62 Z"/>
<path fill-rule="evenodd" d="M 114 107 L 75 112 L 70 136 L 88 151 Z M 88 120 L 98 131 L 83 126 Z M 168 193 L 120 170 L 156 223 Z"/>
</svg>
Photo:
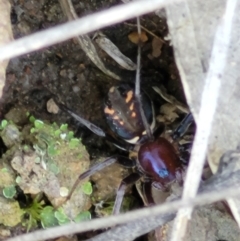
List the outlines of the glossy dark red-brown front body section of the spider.
<svg viewBox="0 0 240 241">
<path fill-rule="evenodd" d="M 138 161 L 143 171 L 163 186 L 176 179 L 181 161 L 173 145 L 163 137 L 140 147 Z"/>
</svg>

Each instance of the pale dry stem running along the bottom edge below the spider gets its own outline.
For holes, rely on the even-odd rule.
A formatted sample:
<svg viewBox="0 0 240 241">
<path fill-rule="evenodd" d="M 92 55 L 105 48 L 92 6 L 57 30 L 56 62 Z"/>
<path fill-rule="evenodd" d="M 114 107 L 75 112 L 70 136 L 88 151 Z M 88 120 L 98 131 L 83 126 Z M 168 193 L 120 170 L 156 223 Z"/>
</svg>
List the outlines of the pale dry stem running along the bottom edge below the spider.
<svg viewBox="0 0 240 241">
<path fill-rule="evenodd" d="M 180 208 L 209 204 L 219 200 L 224 200 L 226 197 L 237 197 L 240 194 L 240 188 L 237 188 L 240 182 L 239 179 L 240 179 L 240 171 L 238 170 L 232 175 L 229 175 L 225 179 L 221 178 L 220 176 L 220 178 L 213 180 L 213 182 L 209 182 L 207 186 L 202 187 L 202 191 L 204 190 L 216 190 L 216 191 L 211 191 L 211 192 L 207 191 L 204 194 L 200 194 L 197 197 L 192 199 L 173 201 L 173 202 L 165 203 L 163 205 L 157 205 L 154 207 L 131 211 L 126 214 L 120 214 L 116 216 L 110 216 L 110 217 L 105 217 L 101 219 L 94 219 L 91 221 L 82 222 L 81 224 L 74 223 L 74 224 L 68 224 L 65 226 L 49 228 L 47 230 L 39 230 L 32 233 L 20 235 L 18 237 L 10 238 L 7 241 L 47 240 L 47 239 L 60 237 L 63 235 L 70 235 L 70 234 L 85 232 L 89 230 L 113 227 L 119 224 L 126 224 L 133 221 L 137 221 L 138 223 L 141 223 L 143 219 L 149 219 L 154 217 L 157 218 L 158 221 L 160 222 L 158 223 L 159 225 L 161 224 L 161 222 L 169 221 L 169 217 Z M 163 214 L 167 214 L 167 215 L 163 216 Z M 154 228 L 155 226 L 153 225 L 151 229 L 154 229 Z M 121 240 L 125 240 L 125 239 L 122 238 Z"/>
</svg>

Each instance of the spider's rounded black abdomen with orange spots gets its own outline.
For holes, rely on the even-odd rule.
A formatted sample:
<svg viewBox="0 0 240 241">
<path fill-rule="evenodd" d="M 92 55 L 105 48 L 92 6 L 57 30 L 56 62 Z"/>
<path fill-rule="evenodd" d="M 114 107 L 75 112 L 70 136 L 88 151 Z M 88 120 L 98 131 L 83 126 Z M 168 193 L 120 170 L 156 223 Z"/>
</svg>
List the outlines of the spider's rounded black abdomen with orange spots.
<svg viewBox="0 0 240 241">
<path fill-rule="evenodd" d="M 155 116 L 152 102 L 145 92 L 141 97 L 144 115 L 153 131 Z M 104 113 L 110 129 L 119 138 L 131 144 L 144 141 L 146 130 L 132 86 L 121 84 L 111 87 L 105 100 Z"/>
</svg>

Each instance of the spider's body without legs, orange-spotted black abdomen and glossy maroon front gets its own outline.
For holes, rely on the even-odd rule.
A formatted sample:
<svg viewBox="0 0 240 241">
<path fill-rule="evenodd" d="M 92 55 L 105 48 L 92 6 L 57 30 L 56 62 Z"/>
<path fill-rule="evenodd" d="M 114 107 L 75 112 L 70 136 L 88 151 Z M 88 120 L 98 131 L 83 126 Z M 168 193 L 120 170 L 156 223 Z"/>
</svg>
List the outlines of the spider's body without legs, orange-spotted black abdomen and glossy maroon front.
<svg viewBox="0 0 240 241">
<path fill-rule="evenodd" d="M 142 92 L 141 103 L 144 115 L 152 132 L 156 128 L 152 102 Z M 167 186 L 179 176 L 182 163 L 175 147 L 165 138 L 148 140 L 141 118 L 140 108 L 135 98 L 134 88 L 129 84 L 111 87 L 105 101 L 104 113 L 111 130 L 131 144 L 140 145 L 137 164 L 141 172 L 160 185 Z"/>
</svg>

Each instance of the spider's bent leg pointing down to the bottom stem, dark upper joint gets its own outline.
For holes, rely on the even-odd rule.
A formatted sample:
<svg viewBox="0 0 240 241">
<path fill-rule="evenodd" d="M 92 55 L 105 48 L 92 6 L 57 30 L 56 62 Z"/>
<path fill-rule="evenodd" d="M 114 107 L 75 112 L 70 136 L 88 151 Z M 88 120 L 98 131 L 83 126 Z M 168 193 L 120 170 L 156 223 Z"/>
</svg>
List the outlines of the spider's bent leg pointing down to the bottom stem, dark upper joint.
<svg viewBox="0 0 240 241">
<path fill-rule="evenodd" d="M 138 173 L 131 173 L 129 176 L 125 177 L 117 190 L 117 197 L 114 203 L 112 214 L 119 214 L 120 208 L 122 205 L 123 197 L 128 185 L 135 183 L 141 178 L 141 175 Z"/>
</svg>

